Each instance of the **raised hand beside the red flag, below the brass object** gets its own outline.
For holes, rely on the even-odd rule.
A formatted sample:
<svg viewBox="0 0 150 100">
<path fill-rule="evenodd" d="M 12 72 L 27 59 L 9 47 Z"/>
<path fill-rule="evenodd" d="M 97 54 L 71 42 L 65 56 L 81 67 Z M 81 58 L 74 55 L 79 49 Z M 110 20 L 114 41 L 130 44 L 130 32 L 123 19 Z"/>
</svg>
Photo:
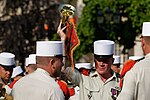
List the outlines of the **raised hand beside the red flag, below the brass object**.
<svg viewBox="0 0 150 100">
<path fill-rule="evenodd" d="M 64 41 L 66 38 L 66 34 L 63 31 L 66 29 L 67 26 L 61 28 L 61 25 L 62 25 L 62 20 L 60 21 L 59 26 L 57 28 L 57 33 L 59 34 L 61 40 Z"/>
</svg>

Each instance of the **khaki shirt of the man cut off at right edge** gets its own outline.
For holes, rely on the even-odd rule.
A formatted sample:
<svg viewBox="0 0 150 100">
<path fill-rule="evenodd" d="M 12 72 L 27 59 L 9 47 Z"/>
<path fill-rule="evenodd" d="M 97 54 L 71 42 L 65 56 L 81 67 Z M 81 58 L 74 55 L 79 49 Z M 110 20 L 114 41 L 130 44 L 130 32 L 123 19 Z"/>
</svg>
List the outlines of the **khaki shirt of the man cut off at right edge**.
<svg viewBox="0 0 150 100">
<path fill-rule="evenodd" d="M 150 53 L 127 72 L 117 100 L 150 100 Z"/>
</svg>

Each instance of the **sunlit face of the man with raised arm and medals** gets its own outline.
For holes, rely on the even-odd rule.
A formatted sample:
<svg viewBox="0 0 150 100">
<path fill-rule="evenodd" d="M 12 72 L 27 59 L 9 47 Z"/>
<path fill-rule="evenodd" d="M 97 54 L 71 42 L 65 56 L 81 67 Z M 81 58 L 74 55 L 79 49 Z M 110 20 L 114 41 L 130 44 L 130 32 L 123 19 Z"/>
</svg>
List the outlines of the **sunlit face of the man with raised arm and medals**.
<svg viewBox="0 0 150 100">
<path fill-rule="evenodd" d="M 110 73 L 113 58 L 96 58 L 95 68 L 100 75 L 107 75 Z"/>
</svg>

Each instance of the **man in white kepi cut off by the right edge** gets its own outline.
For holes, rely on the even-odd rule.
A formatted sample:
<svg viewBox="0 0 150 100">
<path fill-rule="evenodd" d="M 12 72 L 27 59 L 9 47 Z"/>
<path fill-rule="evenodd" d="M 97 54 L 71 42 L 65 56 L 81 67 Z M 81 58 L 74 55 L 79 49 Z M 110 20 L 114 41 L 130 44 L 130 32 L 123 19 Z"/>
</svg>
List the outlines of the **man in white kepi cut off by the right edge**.
<svg viewBox="0 0 150 100">
<path fill-rule="evenodd" d="M 145 58 L 126 73 L 123 88 L 117 100 L 150 99 L 150 22 L 143 23 L 141 44 Z"/>
</svg>

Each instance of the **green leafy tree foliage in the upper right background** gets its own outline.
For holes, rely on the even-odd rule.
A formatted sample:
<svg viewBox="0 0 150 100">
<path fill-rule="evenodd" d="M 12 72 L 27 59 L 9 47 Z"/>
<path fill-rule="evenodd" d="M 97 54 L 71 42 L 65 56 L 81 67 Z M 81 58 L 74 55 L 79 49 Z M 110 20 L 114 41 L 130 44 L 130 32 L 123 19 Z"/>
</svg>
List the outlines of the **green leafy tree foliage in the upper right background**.
<svg viewBox="0 0 150 100">
<path fill-rule="evenodd" d="M 83 2 L 86 5 L 77 27 L 81 43 L 74 54 L 76 59 L 93 52 L 93 42 L 100 39 L 119 42 L 124 46 L 124 50 L 132 48 L 136 35 L 141 33 L 142 23 L 150 21 L 150 0 L 83 0 Z M 98 11 L 101 10 L 105 16 L 107 8 L 110 8 L 113 14 L 112 19 L 98 24 Z M 113 20 L 117 11 L 120 12 L 119 23 Z"/>
</svg>

